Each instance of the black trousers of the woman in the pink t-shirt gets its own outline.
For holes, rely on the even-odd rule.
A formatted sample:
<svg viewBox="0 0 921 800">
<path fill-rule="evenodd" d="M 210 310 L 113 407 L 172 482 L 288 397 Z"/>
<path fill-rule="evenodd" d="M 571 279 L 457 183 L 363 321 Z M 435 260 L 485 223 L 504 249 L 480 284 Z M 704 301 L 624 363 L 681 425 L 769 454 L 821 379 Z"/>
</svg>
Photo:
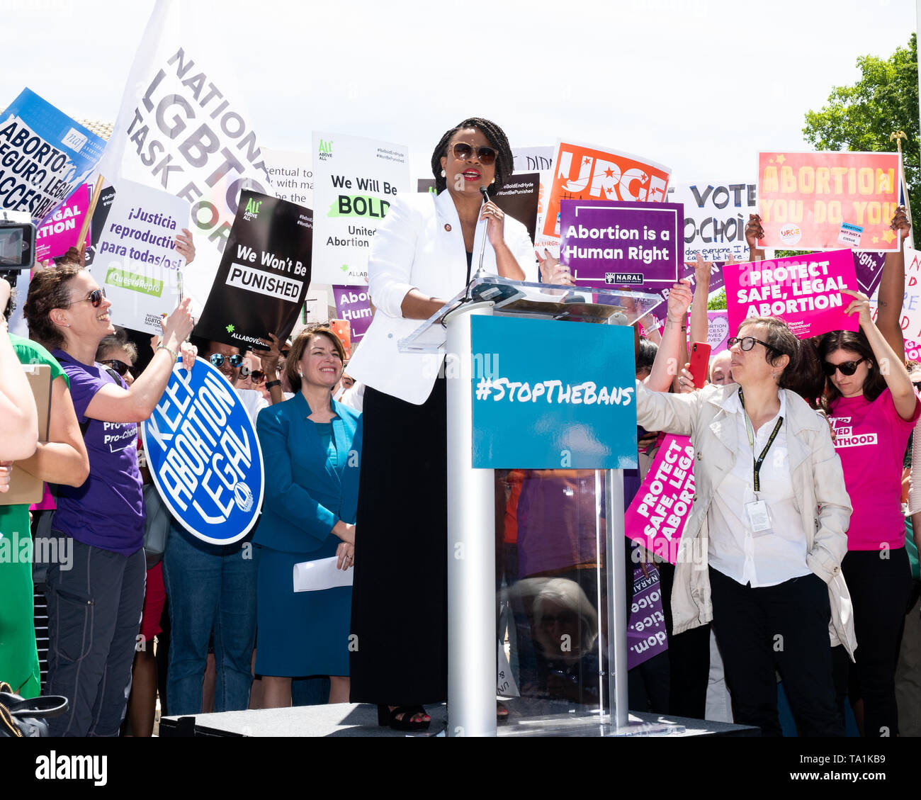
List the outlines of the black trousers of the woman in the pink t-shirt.
<svg viewBox="0 0 921 800">
<path fill-rule="evenodd" d="M 854 605 L 857 663 L 839 656 L 835 684 L 839 695 L 849 693 L 851 704 L 863 699 L 864 735 L 894 736 L 899 732 L 895 665 L 912 589 L 908 556 L 904 547 L 850 550 L 841 571 Z"/>
</svg>

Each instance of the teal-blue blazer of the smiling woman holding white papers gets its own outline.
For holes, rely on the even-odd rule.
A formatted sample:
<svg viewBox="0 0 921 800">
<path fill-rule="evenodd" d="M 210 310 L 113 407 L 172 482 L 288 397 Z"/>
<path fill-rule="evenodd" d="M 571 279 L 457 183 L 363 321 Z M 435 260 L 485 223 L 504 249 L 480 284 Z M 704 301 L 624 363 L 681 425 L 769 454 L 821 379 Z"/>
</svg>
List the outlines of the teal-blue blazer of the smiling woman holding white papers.
<svg viewBox="0 0 921 800">
<path fill-rule="evenodd" d="M 297 392 L 290 400 L 263 408 L 256 418 L 262 446 L 265 494 L 262 518 L 253 536 L 258 545 L 293 553 L 322 547 L 337 520 L 355 524 L 361 460 L 361 414 L 332 401 L 339 415 L 332 435 L 339 454 L 333 467 L 321 447 L 310 406 Z"/>
</svg>

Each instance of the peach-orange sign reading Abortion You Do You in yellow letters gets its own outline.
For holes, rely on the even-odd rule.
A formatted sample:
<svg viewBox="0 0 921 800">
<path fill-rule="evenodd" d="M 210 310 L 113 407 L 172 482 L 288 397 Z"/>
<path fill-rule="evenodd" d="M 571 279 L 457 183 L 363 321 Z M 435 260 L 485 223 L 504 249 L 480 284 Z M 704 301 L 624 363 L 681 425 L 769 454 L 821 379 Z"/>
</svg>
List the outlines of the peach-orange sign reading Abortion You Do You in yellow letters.
<svg viewBox="0 0 921 800">
<path fill-rule="evenodd" d="M 897 250 L 898 153 L 759 153 L 759 247 Z M 857 244 L 854 242 L 857 241 Z"/>
</svg>

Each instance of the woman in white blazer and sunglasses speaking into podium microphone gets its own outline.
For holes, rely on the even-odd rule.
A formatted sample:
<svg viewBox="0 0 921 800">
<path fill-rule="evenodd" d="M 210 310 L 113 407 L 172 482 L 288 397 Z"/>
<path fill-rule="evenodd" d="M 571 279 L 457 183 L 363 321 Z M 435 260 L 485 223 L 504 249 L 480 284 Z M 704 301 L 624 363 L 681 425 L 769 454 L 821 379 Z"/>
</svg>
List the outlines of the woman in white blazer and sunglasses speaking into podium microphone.
<svg viewBox="0 0 921 800">
<path fill-rule="evenodd" d="M 376 312 L 349 374 L 367 384 L 358 491 L 353 702 L 377 703 L 379 724 L 428 727 L 423 704 L 448 695 L 447 421 L 443 357 L 397 343 L 485 272 L 537 280 L 528 232 L 481 193 L 511 174 L 502 129 L 471 118 L 432 154 L 437 194 L 401 194 L 367 265 Z"/>
</svg>

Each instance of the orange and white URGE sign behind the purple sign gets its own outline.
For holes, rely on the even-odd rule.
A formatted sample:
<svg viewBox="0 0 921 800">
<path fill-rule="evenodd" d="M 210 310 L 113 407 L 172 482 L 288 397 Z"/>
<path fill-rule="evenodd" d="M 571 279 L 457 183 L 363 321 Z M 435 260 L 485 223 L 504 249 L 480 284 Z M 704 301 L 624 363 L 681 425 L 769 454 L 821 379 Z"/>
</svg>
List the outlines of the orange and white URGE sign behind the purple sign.
<svg viewBox="0 0 921 800">
<path fill-rule="evenodd" d="M 670 169 L 617 150 L 557 142 L 541 233 L 560 238 L 561 200 L 665 200 Z"/>
</svg>

